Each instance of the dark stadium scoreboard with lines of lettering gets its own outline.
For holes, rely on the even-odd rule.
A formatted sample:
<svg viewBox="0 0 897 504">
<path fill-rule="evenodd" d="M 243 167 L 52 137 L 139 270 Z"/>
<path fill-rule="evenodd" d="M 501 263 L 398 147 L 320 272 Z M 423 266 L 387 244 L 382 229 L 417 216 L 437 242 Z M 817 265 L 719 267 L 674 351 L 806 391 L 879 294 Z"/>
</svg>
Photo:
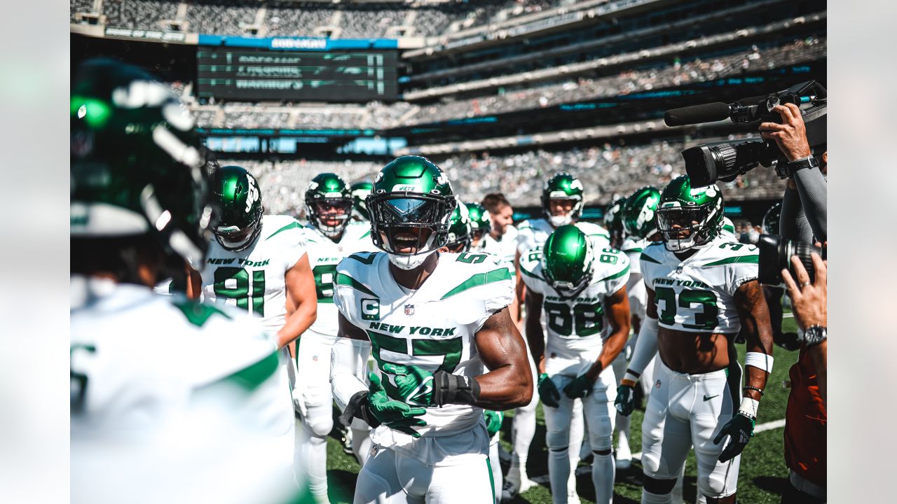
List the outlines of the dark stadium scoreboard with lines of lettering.
<svg viewBox="0 0 897 504">
<path fill-rule="evenodd" d="M 223 100 L 396 100 L 396 51 L 199 48 L 197 96 Z"/>
</svg>

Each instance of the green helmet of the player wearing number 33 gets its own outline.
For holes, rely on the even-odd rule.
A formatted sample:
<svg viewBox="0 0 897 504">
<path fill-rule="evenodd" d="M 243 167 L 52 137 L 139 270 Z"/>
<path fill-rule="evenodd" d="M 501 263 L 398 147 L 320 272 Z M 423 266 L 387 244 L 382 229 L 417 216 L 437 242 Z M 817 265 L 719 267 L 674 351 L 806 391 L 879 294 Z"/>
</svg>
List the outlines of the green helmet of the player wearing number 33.
<svg viewBox="0 0 897 504">
<path fill-rule="evenodd" d="M 658 229 L 671 252 L 684 252 L 716 238 L 723 222 L 723 195 L 716 184 L 692 187 L 687 175 L 675 178 L 660 195 Z"/>
</svg>

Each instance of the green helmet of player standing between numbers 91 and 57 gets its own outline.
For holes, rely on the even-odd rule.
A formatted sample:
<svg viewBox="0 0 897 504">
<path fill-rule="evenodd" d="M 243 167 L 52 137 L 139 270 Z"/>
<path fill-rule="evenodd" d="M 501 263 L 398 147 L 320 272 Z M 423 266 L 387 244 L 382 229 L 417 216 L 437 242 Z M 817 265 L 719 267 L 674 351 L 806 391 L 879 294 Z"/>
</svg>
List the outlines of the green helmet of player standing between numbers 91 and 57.
<svg viewBox="0 0 897 504">
<path fill-rule="evenodd" d="M 352 193 L 343 178 L 335 173 L 320 173 L 312 178 L 305 191 L 305 214 L 311 225 L 328 238 L 343 234 L 352 215 Z"/>
</svg>

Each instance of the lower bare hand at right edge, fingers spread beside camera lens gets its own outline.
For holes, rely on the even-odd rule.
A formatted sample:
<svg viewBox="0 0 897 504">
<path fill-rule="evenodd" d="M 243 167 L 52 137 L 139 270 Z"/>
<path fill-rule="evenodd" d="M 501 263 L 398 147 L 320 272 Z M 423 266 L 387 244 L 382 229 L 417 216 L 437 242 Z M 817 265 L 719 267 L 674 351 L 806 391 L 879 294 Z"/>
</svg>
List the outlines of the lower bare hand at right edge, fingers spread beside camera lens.
<svg viewBox="0 0 897 504">
<path fill-rule="evenodd" d="M 797 282 L 791 278 L 787 269 L 782 270 L 782 280 L 788 286 L 788 295 L 791 296 L 791 309 L 797 326 L 806 330 L 809 326 L 827 326 L 826 308 L 826 276 L 828 262 L 815 252 L 811 254 L 813 267 L 816 270 L 815 282 L 810 283 L 810 275 L 806 273 L 804 265 L 797 256 L 791 256 L 791 265 L 797 274 Z"/>
</svg>

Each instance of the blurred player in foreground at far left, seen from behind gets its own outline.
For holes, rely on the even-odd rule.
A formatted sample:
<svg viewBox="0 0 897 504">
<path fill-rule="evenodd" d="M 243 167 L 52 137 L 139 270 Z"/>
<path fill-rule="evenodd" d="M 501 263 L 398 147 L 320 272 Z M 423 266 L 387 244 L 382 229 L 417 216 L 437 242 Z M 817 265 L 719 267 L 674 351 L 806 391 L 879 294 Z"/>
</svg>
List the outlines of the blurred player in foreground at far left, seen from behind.
<svg viewBox="0 0 897 504">
<path fill-rule="evenodd" d="M 193 121 L 134 66 L 91 60 L 76 75 L 72 501 L 271 503 L 274 491 L 283 502 L 292 456 L 279 446 L 279 419 L 290 409 L 274 341 L 248 316 L 152 291 L 203 261 L 216 219 Z M 214 449 L 221 439 L 210 431 L 233 444 Z M 219 491 L 205 468 L 224 465 L 245 472 Z"/>
</svg>

